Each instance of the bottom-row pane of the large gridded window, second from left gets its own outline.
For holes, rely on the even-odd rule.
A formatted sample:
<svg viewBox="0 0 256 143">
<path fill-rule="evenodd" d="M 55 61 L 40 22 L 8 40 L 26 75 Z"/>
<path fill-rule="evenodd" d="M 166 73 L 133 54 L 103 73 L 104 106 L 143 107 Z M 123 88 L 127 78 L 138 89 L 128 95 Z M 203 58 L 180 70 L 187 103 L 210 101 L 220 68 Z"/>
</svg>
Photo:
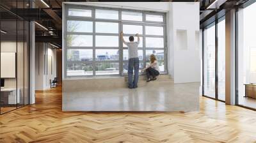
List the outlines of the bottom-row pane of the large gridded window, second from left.
<svg viewBox="0 0 256 143">
<path fill-rule="evenodd" d="M 96 75 L 117 75 L 119 74 L 119 63 L 96 63 Z"/>
</svg>

